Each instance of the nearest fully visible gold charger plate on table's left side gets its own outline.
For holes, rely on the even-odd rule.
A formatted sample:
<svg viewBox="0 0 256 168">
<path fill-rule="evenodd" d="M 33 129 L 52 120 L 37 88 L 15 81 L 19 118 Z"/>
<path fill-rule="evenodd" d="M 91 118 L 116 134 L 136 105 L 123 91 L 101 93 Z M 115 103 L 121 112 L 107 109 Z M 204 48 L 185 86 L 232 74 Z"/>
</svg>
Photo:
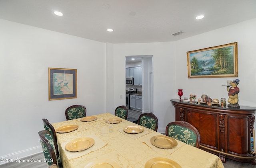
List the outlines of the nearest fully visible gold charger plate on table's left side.
<svg viewBox="0 0 256 168">
<path fill-rule="evenodd" d="M 78 138 L 67 143 L 65 149 L 71 152 L 77 152 L 90 148 L 93 144 L 94 139 L 92 138 Z"/>
</svg>

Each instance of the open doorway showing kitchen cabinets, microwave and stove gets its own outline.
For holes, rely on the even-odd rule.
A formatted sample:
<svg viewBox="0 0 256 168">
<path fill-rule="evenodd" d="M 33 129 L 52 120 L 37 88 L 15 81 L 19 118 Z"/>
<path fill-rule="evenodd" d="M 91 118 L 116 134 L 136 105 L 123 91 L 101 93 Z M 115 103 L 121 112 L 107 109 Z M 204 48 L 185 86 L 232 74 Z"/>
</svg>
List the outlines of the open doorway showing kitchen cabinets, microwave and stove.
<svg viewBox="0 0 256 168">
<path fill-rule="evenodd" d="M 126 78 L 133 78 L 133 85 L 126 84 L 126 101 L 129 117 L 142 113 L 153 113 L 153 55 L 136 55 L 125 57 Z M 137 74 L 138 72 L 138 74 Z M 129 90 L 136 94 L 129 96 Z M 135 96 L 134 96 L 135 95 Z M 130 113 L 130 115 L 129 115 Z"/>
</svg>

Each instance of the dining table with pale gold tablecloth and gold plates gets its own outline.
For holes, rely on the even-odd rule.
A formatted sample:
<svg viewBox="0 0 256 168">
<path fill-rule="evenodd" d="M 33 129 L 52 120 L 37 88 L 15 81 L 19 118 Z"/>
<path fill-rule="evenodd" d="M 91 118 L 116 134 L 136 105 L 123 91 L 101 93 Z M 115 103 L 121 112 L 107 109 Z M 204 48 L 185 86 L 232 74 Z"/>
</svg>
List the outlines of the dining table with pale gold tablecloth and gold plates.
<svg viewBox="0 0 256 168">
<path fill-rule="evenodd" d="M 111 113 L 52 125 L 64 168 L 224 168 L 214 154 Z"/>
</svg>

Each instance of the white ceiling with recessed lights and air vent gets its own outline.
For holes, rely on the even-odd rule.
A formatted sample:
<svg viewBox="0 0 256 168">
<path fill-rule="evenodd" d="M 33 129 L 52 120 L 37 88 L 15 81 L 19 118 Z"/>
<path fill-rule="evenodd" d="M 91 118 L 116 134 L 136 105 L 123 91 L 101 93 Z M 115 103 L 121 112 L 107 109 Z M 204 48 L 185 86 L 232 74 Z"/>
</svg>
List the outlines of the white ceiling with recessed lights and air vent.
<svg viewBox="0 0 256 168">
<path fill-rule="evenodd" d="M 104 43 L 177 41 L 252 18 L 256 0 L 0 0 L 0 19 Z"/>
</svg>

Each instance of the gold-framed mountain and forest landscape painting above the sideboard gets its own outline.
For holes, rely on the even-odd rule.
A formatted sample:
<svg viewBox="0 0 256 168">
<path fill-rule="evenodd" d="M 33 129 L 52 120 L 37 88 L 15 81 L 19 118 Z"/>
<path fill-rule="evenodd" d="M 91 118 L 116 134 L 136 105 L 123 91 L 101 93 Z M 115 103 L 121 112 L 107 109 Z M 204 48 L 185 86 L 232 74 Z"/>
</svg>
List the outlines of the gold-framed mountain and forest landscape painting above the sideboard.
<svg viewBox="0 0 256 168">
<path fill-rule="evenodd" d="M 238 77 L 237 42 L 188 51 L 188 78 Z"/>
</svg>

